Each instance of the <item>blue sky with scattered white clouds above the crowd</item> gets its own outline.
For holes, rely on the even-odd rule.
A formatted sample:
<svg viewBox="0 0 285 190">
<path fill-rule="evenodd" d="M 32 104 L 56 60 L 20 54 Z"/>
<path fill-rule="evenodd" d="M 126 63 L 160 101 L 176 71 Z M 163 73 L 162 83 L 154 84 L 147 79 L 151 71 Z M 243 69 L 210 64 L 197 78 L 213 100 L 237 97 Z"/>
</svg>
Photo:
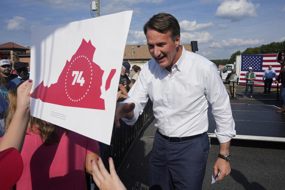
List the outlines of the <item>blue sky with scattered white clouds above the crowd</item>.
<svg viewBox="0 0 285 190">
<path fill-rule="evenodd" d="M 90 2 L 2 0 L 0 44 L 30 46 L 32 26 L 91 18 Z M 198 41 L 197 53 L 208 59 L 229 59 L 237 50 L 285 40 L 284 0 L 100 0 L 100 16 L 126 10 L 133 10 L 127 45 L 146 44 L 143 25 L 159 12 L 175 16 L 181 43 Z"/>
</svg>

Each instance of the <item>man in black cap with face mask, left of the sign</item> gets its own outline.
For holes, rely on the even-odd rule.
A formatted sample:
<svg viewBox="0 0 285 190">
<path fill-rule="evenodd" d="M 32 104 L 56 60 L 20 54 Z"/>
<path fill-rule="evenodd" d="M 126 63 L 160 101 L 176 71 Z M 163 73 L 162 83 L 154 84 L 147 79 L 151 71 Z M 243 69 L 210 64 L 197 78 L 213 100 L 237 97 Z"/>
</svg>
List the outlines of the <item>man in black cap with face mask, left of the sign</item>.
<svg viewBox="0 0 285 190">
<path fill-rule="evenodd" d="M 28 68 L 27 68 L 28 66 L 29 63 L 24 63 L 24 62 L 17 62 L 14 64 L 14 68 L 18 77 L 9 82 L 8 84 L 9 89 L 15 88 L 21 82 L 29 79 L 30 76 L 28 74 Z"/>
</svg>

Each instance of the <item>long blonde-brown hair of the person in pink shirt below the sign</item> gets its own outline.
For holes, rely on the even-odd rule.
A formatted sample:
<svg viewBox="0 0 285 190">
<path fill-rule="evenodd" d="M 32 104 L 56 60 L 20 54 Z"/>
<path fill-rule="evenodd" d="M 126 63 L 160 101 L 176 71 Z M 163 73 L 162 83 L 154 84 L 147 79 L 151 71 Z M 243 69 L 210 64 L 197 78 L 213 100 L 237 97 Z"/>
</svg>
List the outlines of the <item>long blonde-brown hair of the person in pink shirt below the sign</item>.
<svg viewBox="0 0 285 190">
<path fill-rule="evenodd" d="M 19 85 L 18 85 L 19 86 Z M 8 129 L 12 118 L 15 114 L 16 108 L 17 108 L 17 87 L 15 87 L 14 89 L 10 89 L 9 90 L 9 100 L 10 100 L 10 104 L 9 104 L 9 108 L 8 108 L 8 116 L 7 116 L 7 120 L 5 123 L 5 130 Z M 30 116 L 30 121 L 28 124 L 28 129 L 37 134 L 40 135 L 40 138 L 42 139 L 42 142 L 45 145 L 51 145 L 54 142 L 58 142 L 59 141 L 59 137 L 58 137 L 58 133 L 57 133 L 57 125 L 52 124 L 50 122 L 46 122 L 42 119 Z M 62 128 L 62 130 L 65 132 L 65 135 L 67 135 L 67 129 Z"/>
</svg>

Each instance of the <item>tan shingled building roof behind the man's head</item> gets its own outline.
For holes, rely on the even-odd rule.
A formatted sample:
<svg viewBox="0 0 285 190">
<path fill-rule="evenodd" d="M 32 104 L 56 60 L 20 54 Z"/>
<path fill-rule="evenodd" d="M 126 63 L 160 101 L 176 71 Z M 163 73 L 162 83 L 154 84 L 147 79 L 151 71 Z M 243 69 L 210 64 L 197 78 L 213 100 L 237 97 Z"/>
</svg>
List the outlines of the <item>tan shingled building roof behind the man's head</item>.
<svg viewBox="0 0 285 190">
<path fill-rule="evenodd" d="M 192 52 L 191 44 L 182 44 L 185 50 Z M 139 46 L 139 47 L 138 47 Z M 134 54 L 132 55 L 132 47 L 134 47 Z M 152 59 L 149 54 L 147 45 L 126 45 L 124 51 L 124 59 Z"/>
</svg>

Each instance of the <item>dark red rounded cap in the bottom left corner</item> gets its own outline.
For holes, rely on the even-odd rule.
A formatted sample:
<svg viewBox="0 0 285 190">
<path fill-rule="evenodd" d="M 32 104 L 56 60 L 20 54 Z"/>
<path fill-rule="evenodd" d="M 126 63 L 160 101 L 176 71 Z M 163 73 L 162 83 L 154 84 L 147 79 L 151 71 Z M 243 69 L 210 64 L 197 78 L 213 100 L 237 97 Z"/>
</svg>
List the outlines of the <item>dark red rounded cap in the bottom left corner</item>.
<svg viewBox="0 0 285 190">
<path fill-rule="evenodd" d="M 23 172 L 23 159 L 15 148 L 0 152 L 0 187 L 7 190 L 13 187 Z"/>
</svg>

